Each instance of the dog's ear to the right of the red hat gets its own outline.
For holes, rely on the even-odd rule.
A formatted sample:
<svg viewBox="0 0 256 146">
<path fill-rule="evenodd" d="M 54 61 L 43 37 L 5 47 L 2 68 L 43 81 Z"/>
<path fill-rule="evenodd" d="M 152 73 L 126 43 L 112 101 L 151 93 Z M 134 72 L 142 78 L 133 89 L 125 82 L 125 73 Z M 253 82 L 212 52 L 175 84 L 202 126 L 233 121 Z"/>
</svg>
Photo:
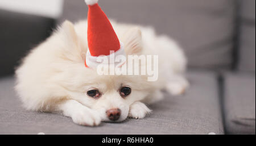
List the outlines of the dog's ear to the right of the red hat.
<svg viewBox="0 0 256 146">
<path fill-rule="evenodd" d="M 142 52 L 142 35 L 138 27 L 126 31 L 122 37 L 127 55 L 140 55 Z"/>
</svg>

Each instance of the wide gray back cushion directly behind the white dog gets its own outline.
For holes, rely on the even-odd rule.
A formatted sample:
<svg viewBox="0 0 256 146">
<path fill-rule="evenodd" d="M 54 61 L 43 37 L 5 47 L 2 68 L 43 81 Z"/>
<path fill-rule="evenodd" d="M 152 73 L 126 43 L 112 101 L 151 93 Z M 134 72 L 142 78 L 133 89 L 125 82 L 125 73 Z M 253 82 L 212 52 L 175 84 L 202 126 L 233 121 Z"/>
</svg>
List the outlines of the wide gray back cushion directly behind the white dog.
<svg viewBox="0 0 256 146">
<path fill-rule="evenodd" d="M 180 43 L 194 68 L 228 69 L 233 62 L 234 0 L 108 0 L 99 1 L 109 18 L 153 26 L 158 34 Z M 65 0 L 59 20 L 86 19 L 81 0 Z"/>
</svg>

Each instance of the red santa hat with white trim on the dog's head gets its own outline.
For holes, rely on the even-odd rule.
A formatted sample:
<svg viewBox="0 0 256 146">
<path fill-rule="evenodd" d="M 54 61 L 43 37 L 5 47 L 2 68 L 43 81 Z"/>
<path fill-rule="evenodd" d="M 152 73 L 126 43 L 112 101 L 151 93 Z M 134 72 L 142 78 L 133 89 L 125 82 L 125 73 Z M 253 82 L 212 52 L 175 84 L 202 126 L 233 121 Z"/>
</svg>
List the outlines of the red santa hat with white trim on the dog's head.
<svg viewBox="0 0 256 146">
<path fill-rule="evenodd" d="M 98 0 L 85 0 L 88 5 L 88 51 L 86 53 L 85 66 L 96 68 L 101 62 L 97 61 L 97 57 L 102 55 L 110 57 L 110 51 L 117 55 L 125 55 L 123 44 L 119 41 L 108 17 L 98 5 Z M 110 62 L 119 64 L 119 62 Z"/>
</svg>

